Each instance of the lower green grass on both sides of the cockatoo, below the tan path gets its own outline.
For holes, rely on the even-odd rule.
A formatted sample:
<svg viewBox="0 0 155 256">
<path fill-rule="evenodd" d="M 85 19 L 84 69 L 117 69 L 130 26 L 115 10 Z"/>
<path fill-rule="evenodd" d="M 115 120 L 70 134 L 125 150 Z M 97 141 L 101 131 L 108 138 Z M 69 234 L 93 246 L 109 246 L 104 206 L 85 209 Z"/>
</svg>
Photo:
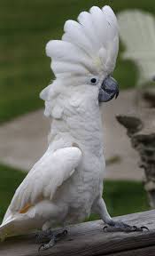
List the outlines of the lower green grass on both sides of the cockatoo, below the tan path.
<svg viewBox="0 0 155 256">
<path fill-rule="evenodd" d="M 12 200 L 15 189 L 26 174 L 11 167 L 0 165 L 0 222 Z M 147 196 L 141 182 L 105 181 L 104 198 L 112 216 L 149 210 Z M 88 220 L 97 220 L 92 214 Z"/>
</svg>

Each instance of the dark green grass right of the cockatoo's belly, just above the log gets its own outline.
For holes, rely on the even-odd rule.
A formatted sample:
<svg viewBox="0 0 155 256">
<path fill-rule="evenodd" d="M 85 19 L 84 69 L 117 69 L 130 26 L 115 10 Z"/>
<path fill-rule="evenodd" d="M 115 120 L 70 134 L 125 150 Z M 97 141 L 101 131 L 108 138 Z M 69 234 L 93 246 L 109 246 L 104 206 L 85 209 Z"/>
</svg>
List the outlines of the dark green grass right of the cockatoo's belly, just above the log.
<svg viewBox="0 0 155 256">
<path fill-rule="evenodd" d="M 104 195 L 112 217 L 150 210 L 147 195 L 140 181 L 105 180 Z M 100 219 L 91 214 L 88 220 Z"/>
</svg>

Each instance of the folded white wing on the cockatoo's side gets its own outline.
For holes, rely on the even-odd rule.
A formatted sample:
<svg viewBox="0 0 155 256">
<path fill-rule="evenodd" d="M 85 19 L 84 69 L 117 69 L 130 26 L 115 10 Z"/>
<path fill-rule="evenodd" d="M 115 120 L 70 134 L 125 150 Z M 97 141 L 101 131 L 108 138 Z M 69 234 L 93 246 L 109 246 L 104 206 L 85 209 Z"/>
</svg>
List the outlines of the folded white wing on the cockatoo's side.
<svg viewBox="0 0 155 256">
<path fill-rule="evenodd" d="M 81 161 L 79 148 L 47 150 L 20 184 L 9 207 L 19 212 L 27 204 L 35 204 L 40 198 L 52 199 L 57 188 L 67 180 Z"/>
</svg>

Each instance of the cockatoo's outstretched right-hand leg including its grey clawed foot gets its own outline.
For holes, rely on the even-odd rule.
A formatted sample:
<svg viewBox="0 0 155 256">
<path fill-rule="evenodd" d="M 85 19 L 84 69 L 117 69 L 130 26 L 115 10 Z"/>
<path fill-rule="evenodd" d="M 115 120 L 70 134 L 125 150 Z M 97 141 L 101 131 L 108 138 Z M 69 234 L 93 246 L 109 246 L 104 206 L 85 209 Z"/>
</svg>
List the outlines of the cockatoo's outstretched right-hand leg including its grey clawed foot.
<svg viewBox="0 0 155 256">
<path fill-rule="evenodd" d="M 135 232 L 135 231 L 141 231 L 143 230 L 149 230 L 149 228 L 142 226 L 142 227 L 136 227 L 128 225 L 122 221 L 115 221 L 112 220 L 111 216 L 107 212 L 105 201 L 103 198 L 100 198 L 97 202 L 96 206 L 97 212 L 100 214 L 100 217 L 102 220 L 104 220 L 105 224 L 107 224 L 103 229 L 105 232 Z"/>
</svg>

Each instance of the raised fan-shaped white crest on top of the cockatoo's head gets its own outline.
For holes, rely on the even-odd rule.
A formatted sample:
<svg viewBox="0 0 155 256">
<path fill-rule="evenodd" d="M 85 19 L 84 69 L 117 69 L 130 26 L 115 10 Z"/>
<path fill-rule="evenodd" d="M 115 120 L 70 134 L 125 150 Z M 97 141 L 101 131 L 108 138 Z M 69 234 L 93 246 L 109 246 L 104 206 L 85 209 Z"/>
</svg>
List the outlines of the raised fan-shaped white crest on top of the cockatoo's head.
<svg viewBox="0 0 155 256">
<path fill-rule="evenodd" d="M 118 25 L 112 9 L 93 6 L 89 12 L 81 12 L 77 20 L 67 20 L 62 40 L 50 41 L 46 46 L 55 76 L 110 74 L 119 49 Z"/>
</svg>

